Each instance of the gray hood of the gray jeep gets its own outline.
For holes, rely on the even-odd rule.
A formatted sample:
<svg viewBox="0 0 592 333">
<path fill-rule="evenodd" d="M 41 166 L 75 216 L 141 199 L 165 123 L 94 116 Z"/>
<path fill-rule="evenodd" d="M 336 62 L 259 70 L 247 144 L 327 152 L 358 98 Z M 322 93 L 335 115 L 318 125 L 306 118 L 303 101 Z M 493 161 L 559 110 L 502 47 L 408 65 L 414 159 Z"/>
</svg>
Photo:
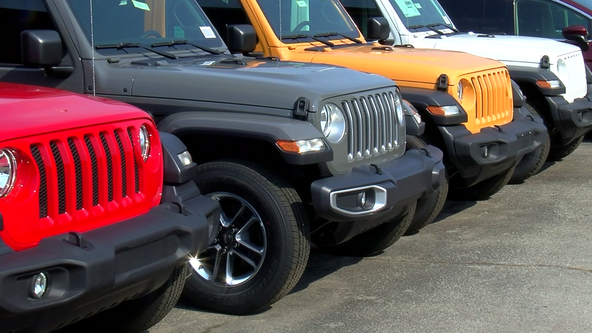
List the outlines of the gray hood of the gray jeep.
<svg viewBox="0 0 592 333">
<path fill-rule="evenodd" d="M 131 94 L 292 110 L 300 97 L 318 105 L 325 98 L 393 86 L 382 76 L 347 68 L 226 56 L 145 66 Z"/>
</svg>

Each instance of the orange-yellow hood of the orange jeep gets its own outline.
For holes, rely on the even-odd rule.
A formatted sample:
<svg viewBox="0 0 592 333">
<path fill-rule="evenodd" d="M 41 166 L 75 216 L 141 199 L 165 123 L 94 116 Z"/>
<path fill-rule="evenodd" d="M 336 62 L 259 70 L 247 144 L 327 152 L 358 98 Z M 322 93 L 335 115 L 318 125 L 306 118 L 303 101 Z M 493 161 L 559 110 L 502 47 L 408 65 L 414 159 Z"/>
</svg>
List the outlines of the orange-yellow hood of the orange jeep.
<svg viewBox="0 0 592 333">
<path fill-rule="evenodd" d="M 294 60 L 305 60 L 304 57 L 309 57 L 306 61 L 331 63 L 362 72 L 377 73 L 401 85 L 406 85 L 404 82 L 436 84 L 442 74 L 454 80 L 460 75 L 504 66 L 496 60 L 464 52 L 403 47 L 383 48 L 370 45 L 335 49 L 325 47 L 322 52 L 303 50 L 292 56 L 301 57 Z"/>
</svg>

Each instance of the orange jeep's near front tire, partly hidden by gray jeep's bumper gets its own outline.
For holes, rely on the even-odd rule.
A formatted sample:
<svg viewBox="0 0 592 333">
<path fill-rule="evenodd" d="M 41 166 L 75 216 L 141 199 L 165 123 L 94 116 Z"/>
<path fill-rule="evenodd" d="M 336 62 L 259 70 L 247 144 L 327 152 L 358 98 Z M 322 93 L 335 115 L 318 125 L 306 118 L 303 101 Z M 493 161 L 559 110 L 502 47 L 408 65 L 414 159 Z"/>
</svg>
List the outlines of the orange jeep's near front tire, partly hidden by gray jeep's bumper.
<svg viewBox="0 0 592 333">
<path fill-rule="evenodd" d="M 426 143 L 417 136 L 407 135 L 406 149 L 422 149 Z M 444 178 L 444 184 L 437 191 L 425 198 L 417 200 L 417 206 L 411 224 L 405 235 L 412 235 L 418 232 L 424 226 L 429 225 L 436 219 L 436 216 L 442 211 L 446 196 L 448 195 L 448 176 Z"/>
</svg>

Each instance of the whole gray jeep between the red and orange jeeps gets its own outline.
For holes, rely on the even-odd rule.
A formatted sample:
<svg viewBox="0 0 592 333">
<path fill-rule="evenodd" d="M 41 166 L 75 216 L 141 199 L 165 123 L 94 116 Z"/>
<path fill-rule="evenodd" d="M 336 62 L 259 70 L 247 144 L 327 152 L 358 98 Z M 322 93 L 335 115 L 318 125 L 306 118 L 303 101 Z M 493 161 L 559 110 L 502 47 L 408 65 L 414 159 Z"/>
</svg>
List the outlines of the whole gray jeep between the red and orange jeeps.
<svg viewBox="0 0 592 333">
<path fill-rule="evenodd" d="M 406 150 L 394 82 L 230 55 L 195 0 L 4 0 L 0 16 L 0 80 L 137 105 L 188 147 L 223 211 L 214 243 L 188 258 L 185 296 L 202 308 L 271 305 L 303 274 L 310 239 L 382 251 L 444 180 L 441 151 Z M 244 26 L 228 32 L 256 43 Z"/>
</svg>

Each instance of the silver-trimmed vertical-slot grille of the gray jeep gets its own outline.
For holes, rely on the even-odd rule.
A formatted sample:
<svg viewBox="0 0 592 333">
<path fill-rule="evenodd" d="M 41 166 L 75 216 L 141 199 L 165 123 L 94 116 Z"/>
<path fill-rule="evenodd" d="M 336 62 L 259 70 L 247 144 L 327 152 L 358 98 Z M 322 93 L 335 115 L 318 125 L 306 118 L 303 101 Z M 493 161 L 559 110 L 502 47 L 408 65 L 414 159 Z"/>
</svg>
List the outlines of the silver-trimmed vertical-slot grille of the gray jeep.
<svg viewBox="0 0 592 333">
<path fill-rule="evenodd" d="M 344 100 L 341 106 L 346 117 L 349 162 L 398 147 L 395 98 L 391 91 Z"/>
</svg>

